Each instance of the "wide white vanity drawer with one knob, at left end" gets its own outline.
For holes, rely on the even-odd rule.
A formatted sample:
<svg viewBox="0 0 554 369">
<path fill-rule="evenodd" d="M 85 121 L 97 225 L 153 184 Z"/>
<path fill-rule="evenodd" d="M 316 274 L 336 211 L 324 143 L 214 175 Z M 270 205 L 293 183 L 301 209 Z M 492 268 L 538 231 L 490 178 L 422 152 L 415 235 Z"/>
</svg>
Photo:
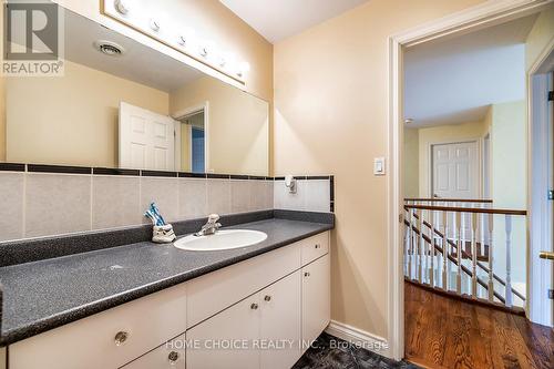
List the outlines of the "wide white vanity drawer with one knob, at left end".
<svg viewBox="0 0 554 369">
<path fill-rule="evenodd" d="M 119 368 L 185 329 L 182 284 L 16 342 L 9 367 Z"/>
</svg>

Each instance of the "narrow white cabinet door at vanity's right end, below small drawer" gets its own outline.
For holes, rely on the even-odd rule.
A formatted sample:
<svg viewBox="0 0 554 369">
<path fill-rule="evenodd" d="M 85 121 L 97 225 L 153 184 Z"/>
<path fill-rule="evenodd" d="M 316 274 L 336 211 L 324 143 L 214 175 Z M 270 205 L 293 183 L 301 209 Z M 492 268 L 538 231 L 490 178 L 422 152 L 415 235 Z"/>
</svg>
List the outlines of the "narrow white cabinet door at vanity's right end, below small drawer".
<svg viewBox="0 0 554 369">
<path fill-rule="evenodd" d="M 329 325 L 331 318 L 329 254 L 302 268 L 302 340 L 304 350 Z"/>
</svg>

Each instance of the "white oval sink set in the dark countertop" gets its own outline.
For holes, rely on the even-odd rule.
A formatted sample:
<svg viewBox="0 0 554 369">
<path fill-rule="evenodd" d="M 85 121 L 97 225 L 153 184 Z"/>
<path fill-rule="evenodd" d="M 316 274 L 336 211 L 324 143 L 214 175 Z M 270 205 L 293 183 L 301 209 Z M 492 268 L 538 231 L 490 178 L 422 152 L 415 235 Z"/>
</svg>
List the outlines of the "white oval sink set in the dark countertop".
<svg viewBox="0 0 554 369">
<path fill-rule="evenodd" d="M 227 229 L 217 230 L 215 235 L 209 236 L 186 236 L 177 239 L 174 245 L 192 252 L 214 252 L 253 246 L 266 238 L 267 235 L 259 230 Z"/>
</svg>

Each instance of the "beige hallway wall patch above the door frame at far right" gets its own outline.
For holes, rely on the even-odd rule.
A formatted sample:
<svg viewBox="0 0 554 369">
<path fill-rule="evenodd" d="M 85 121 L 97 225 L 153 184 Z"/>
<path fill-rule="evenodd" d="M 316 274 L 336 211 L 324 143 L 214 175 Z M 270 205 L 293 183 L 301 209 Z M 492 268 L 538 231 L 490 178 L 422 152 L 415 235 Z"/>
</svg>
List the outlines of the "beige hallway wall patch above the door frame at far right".
<svg viewBox="0 0 554 369">
<path fill-rule="evenodd" d="M 554 4 L 541 12 L 527 35 L 525 65 L 529 71 L 545 48 L 554 40 Z"/>
</svg>

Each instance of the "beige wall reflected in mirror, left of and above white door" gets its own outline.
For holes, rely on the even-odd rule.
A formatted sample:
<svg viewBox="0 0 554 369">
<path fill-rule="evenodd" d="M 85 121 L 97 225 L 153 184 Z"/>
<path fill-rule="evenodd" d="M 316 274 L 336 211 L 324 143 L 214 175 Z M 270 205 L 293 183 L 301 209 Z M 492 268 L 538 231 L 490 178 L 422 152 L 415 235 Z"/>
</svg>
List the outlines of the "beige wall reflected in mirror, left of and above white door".
<svg viewBox="0 0 554 369">
<path fill-rule="evenodd" d="M 167 93 L 69 61 L 62 78 L 8 78 L 7 160 L 116 167 L 120 101 L 168 114 Z"/>
</svg>

